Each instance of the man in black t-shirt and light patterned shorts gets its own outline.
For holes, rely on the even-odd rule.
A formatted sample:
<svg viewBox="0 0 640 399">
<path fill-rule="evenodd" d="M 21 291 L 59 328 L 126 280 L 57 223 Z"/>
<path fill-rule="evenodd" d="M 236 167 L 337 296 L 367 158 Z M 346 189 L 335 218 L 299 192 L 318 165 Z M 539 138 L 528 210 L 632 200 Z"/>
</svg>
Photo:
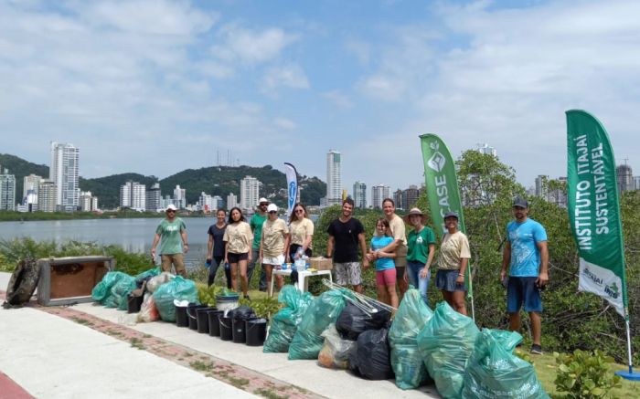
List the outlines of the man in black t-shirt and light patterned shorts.
<svg viewBox="0 0 640 399">
<path fill-rule="evenodd" d="M 354 205 L 354 201 L 347 197 L 342 202 L 342 215 L 327 227 L 329 241 L 326 244 L 326 257 L 331 257 L 333 252 L 336 282 L 341 286 L 351 285 L 354 291 L 362 293 L 362 271 L 357 246 L 359 244 L 362 250 L 362 264 L 368 268 L 368 259 L 365 257 L 367 243 L 365 227 L 359 220 L 351 217 Z"/>
</svg>

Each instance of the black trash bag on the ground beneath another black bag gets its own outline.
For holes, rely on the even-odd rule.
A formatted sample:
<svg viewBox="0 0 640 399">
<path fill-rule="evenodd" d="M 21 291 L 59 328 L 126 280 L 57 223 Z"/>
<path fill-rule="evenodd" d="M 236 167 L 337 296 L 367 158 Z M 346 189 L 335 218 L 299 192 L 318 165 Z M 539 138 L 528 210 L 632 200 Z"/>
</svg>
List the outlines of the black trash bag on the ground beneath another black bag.
<svg viewBox="0 0 640 399">
<path fill-rule="evenodd" d="M 389 329 L 364 331 L 357 337 L 357 373 L 368 380 L 389 380 L 393 378 L 391 349 L 387 334 Z M 349 368 L 353 353 L 349 353 Z"/>
</svg>

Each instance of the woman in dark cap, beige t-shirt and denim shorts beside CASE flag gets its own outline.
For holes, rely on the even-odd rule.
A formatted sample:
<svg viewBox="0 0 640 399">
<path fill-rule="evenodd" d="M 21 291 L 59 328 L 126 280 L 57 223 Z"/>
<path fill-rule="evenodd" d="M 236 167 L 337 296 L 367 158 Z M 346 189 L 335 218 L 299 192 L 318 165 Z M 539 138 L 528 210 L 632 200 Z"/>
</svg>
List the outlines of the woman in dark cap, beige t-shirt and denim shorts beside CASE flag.
<svg viewBox="0 0 640 399">
<path fill-rule="evenodd" d="M 458 230 L 458 214 L 455 212 L 444 214 L 444 226 L 447 232 L 440 246 L 435 286 L 443 292 L 444 300 L 453 310 L 466 316 L 464 272 L 471 258 L 469 240 Z"/>
</svg>

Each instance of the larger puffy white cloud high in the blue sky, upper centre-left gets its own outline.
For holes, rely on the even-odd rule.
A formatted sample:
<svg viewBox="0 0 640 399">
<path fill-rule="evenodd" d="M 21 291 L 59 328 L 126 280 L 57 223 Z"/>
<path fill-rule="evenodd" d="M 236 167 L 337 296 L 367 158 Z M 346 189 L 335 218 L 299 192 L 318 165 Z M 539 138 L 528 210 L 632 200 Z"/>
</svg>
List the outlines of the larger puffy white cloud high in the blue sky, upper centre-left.
<svg viewBox="0 0 640 399">
<path fill-rule="evenodd" d="M 295 41 L 293 35 L 272 27 L 253 31 L 240 26 L 224 26 L 218 35 L 222 43 L 212 47 L 213 54 L 225 61 L 258 64 L 277 58 L 284 47 Z"/>
</svg>

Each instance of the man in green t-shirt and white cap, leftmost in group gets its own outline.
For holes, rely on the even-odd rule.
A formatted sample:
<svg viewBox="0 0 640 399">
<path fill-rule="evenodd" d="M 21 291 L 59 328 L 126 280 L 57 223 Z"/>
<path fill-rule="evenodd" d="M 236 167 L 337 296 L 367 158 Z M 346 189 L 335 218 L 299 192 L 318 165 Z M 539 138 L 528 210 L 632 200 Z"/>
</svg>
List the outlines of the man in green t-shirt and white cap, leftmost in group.
<svg viewBox="0 0 640 399">
<path fill-rule="evenodd" d="M 176 268 L 176 274 L 187 278 L 185 259 L 183 253 L 187 253 L 187 225 L 181 218 L 176 217 L 176 205 L 166 207 L 165 219 L 155 228 L 154 244 L 151 246 L 151 257 L 155 259 L 155 247 L 160 243 L 160 257 L 162 259 L 162 271 L 171 271 L 171 266 Z M 161 241 L 162 240 L 162 241 Z"/>
</svg>

